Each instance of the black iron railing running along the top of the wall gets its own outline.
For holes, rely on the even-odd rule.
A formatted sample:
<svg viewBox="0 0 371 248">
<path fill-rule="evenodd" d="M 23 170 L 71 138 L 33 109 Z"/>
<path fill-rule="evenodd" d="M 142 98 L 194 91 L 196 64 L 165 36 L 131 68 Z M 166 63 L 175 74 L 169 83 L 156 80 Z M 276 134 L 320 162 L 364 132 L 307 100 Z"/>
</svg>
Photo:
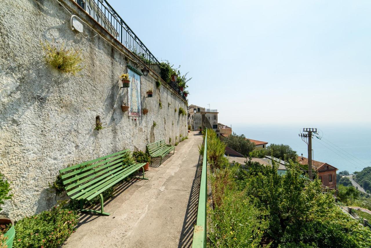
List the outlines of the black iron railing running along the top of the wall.
<svg viewBox="0 0 371 248">
<path fill-rule="evenodd" d="M 157 75 L 160 62 L 106 0 L 73 0 Z"/>
</svg>

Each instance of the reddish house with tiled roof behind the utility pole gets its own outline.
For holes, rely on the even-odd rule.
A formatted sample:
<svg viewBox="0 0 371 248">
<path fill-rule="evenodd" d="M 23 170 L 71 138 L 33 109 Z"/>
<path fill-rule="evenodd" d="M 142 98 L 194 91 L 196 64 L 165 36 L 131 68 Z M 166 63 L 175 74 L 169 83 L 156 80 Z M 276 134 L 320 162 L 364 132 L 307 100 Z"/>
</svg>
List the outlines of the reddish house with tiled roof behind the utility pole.
<svg viewBox="0 0 371 248">
<path fill-rule="evenodd" d="M 308 159 L 306 157 L 298 156 L 296 159 L 299 164 L 308 165 Z M 322 185 L 329 187 L 330 189 L 336 189 L 336 170 L 334 166 L 312 160 L 312 169 L 317 173 L 318 179 L 321 180 Z"/>
</svg>

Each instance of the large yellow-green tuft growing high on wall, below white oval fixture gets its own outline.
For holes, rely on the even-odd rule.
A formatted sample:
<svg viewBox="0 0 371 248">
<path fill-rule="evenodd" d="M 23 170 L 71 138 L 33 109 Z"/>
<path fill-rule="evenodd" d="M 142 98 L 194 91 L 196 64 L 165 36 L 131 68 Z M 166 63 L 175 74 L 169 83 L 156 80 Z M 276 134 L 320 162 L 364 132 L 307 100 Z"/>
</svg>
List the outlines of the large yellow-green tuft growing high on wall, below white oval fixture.
<svg viewBox="0 0 371 248">
<path fill-rule="evenodd" d="M 45 53 L 45 61 L 56 69 L 76 75 L 85 68 L 85 66 L 81 65 L 83 62 L 81 50 L 67 49 L 64 42 L 59 47 L 50 44 L 47 40 L 45 42 L 40 41 L 40 45 Z"/>
</svg>

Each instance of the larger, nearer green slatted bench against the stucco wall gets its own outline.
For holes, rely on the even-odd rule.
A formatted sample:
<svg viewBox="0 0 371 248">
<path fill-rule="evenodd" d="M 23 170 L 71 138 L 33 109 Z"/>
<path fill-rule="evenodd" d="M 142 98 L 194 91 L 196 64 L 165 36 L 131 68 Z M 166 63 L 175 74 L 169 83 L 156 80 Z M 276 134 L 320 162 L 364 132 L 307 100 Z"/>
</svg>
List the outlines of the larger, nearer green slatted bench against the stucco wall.
<svg viewBox="0 0 371 248">
<path fill-rule="evenodd" d="M 109 215 L 103 211 L 102 192 L 145 165 L 145 163 L 124 164 L 122 160 L 127 152 L 129 150 L 119 151 L 59 170 L 67 195 L 72 200 L 80 200 L 81 212 Z M 142 170 L 143 177 L 137 178 L 147 179 L 144 177 L 144 168 Z M 97 195 L 101 196 L 101 211 L 82 209 L 82 200 L 91 200 Z"/>
</svg>

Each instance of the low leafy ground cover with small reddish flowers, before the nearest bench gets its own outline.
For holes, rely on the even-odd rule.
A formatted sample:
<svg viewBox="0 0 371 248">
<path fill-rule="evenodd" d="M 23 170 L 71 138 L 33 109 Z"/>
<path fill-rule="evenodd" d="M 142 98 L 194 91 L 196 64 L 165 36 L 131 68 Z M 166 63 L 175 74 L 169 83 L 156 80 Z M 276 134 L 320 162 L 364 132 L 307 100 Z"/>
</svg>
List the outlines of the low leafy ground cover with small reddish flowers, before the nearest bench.
<svg viewBox="0 0 371 248">
<path fill-rule="evenodd" d="M 59 247 L 72 234 L 78 222 L 76 211 L 53 207 L 16 223 L 14 248 Z"/>
</svg>

